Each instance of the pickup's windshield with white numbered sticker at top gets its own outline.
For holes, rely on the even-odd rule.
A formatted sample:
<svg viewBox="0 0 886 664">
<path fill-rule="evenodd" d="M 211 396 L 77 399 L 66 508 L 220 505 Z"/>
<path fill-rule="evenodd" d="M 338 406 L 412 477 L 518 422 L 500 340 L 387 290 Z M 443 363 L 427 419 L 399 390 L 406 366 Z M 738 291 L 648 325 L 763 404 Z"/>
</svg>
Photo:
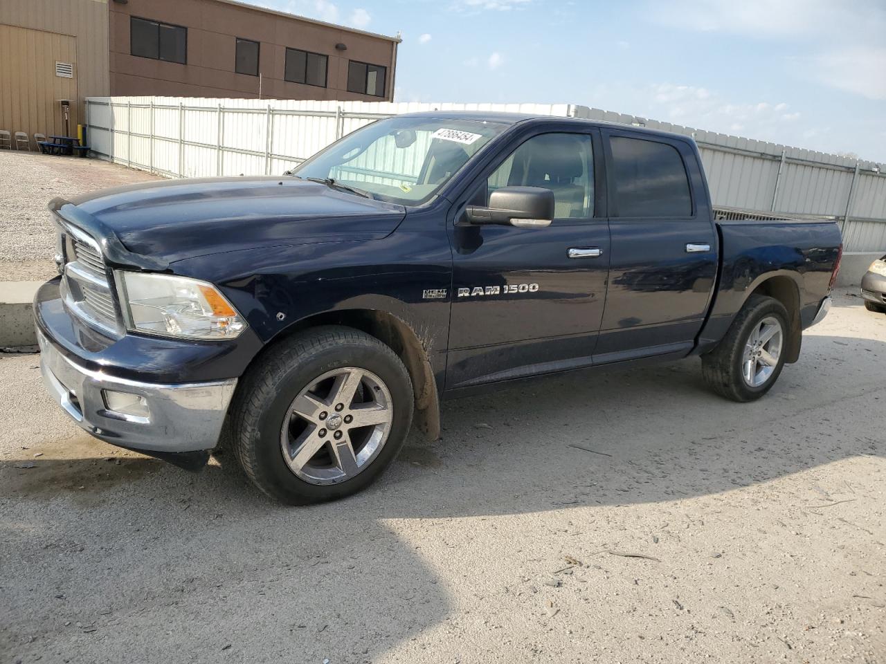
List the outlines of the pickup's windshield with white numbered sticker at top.
<svg viewBox="0 0 886 664">
<path fill-rule="evenodd" d="M 332 186 L 373 198 L 421 205 L 508 125 L 475 120 L 394 117 L 378 120 L 318 152 L 291 174 L 332 178 Z"/>
</svg>

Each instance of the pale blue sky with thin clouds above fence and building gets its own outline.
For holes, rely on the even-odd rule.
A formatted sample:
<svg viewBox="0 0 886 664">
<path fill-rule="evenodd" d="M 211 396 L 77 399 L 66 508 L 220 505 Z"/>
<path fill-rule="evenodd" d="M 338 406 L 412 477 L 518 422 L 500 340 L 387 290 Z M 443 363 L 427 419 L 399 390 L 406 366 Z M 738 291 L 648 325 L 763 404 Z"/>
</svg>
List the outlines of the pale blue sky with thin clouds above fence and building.
<svg viewBox="0 0 886 664">
<path fill-rule="evenodd" d="M 886 162 L 886 0 L 245 1 L 400 33 L 394 101 L 581 104 Z"/>
</svg>

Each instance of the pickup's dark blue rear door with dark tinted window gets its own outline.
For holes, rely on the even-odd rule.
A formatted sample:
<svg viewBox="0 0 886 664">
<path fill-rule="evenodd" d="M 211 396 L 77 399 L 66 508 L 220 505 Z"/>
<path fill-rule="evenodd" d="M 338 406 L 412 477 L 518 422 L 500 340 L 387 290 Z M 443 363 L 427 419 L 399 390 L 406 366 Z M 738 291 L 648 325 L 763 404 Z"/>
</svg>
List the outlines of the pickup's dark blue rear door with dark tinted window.
<svg viewBox="0 0 886 664">
<path fill-rule="evenodd" d="M 694 146 L 604 129 L 610 283 L 595 363 L 689 351 L 717 276 L 717 234 Z"/>
</svg>

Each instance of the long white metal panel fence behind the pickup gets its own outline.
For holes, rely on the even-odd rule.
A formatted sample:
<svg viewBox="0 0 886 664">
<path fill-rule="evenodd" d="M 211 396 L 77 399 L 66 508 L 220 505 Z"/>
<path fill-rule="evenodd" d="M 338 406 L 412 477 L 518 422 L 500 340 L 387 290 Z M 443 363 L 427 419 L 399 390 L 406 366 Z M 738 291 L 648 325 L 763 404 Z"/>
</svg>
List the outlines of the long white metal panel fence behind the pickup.
<svg viewBox="0 0 886 664">
<path fill-rule="evenodd" d="M 524 112 L 661 128 L 695 137 L 714 205 L 834 218 L 846 251 L 886 251 L 886 174 L 877 164 L 587 106 L 198 97 L 89 97 L 86 104 L 93 151 L 169 177 L 281 174 L 354 129 L 403 112 Z"/>
</svg>

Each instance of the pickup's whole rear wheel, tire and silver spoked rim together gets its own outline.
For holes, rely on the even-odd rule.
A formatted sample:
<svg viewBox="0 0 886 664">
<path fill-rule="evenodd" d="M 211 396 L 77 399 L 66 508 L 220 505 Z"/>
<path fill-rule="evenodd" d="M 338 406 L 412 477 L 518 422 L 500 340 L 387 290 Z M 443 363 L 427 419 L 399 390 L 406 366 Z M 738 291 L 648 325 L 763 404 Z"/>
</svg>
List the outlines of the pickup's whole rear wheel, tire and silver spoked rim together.
<svg viewBox="0 0 886 664">
<path fill-rule="evenodd" d="M 752 295 L 717 348 L 702 358 L 705 382 L 733 401 L 768 392 L 784 367 L 788 311 L 773 297 Z"/>
</svg>

